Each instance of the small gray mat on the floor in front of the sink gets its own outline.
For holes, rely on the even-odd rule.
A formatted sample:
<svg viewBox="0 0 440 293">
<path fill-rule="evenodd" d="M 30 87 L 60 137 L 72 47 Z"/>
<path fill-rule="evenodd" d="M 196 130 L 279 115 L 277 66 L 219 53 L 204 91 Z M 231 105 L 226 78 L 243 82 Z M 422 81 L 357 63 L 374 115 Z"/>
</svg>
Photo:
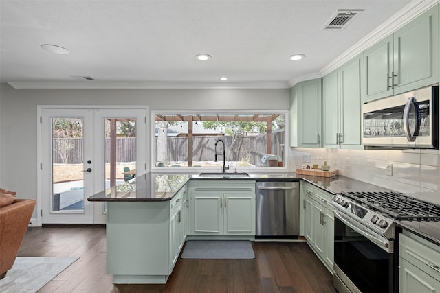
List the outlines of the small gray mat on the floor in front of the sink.
<svg viewBox="0 0 440 293">
<path fill-rule="evenodd" d="M 182 259 L 254 259 L 250 241 L 190 240 L 185 244 Z"/>
</svg>

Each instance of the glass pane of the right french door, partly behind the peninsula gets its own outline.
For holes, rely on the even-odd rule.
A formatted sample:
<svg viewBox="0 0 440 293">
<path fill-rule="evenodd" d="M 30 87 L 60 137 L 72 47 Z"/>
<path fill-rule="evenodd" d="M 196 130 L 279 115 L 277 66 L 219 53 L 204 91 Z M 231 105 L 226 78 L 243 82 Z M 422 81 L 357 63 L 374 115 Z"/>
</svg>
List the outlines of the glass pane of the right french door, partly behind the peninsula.
<svg viewBox="0 0 440 293">
<path fill-rule="evenodd" d="M 105 188 L 133 191 L 136 176 L 136 119 L 107 118 L 105 125 Z"/>
</svg>

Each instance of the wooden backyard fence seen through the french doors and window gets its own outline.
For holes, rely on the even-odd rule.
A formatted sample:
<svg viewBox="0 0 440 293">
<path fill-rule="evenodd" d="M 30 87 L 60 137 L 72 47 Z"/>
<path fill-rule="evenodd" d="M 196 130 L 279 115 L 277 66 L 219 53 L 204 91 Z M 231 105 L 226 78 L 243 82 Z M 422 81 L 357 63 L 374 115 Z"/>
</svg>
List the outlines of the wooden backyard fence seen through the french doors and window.
<svg viewBox="0 0 440 293">
<path fill-rule="evenodd" d="M 266 154 L 266 136 L 241 137 L 232 141 L 232 137 L 193 137 L 192 161 L 214 161 L 214 145 L 221 138 L 226 145 L 226 160 L 247 161 L 251 164 L 259 163 L 261 156 Z M 157 137 L 155 138 L 157 145 Z M 283 157 L 284 131 L 272 133 L 272 154 Z M 83 159 L 82 138 L 54 138 L 54 150 L 52 152 L 55 164 L 78 164 Z M 223 146 L 217 146 L 217 152 L 222 152 Z M 110 161 L 110 139 L 105 143 L 105 161 Z M 157 150 L 155 152 L 157 156 Z M 173 162 L 188 161 L 188 137 L 168 137 L 168 160 Z M 219 160 L 223 160 L 221 156 Z M 116 139 L 116 161 L 136 161 L 136 138 L 118 137 Z"/>
</svg>

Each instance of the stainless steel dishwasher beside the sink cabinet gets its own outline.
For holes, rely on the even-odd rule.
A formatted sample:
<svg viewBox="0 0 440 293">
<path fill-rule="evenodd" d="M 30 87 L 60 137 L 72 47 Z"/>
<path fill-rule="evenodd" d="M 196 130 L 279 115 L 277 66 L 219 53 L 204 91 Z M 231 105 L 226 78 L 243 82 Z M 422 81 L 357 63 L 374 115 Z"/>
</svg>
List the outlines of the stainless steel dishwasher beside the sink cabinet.
<svg viewBox="0 0 440 293">
<path fill-rule="evenodd" d="M 299 227 L 300 183 L 258 181 L 255 239 L 298 239 Z"/>
</svg>

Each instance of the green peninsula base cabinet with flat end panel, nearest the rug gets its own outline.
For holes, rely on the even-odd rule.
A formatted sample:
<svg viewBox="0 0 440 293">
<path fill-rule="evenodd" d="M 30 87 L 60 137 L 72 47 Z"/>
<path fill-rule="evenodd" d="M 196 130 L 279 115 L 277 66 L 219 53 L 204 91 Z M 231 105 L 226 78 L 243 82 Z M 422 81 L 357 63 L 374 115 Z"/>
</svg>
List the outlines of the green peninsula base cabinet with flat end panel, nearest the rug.
<svg viewBox="0 0 440 293">
<path fill-rule="evenodd" d="M 166 283 L 186 240 L 187 192 L 164 202 L 107 202 L 113 283 Z"/>
</svg>

